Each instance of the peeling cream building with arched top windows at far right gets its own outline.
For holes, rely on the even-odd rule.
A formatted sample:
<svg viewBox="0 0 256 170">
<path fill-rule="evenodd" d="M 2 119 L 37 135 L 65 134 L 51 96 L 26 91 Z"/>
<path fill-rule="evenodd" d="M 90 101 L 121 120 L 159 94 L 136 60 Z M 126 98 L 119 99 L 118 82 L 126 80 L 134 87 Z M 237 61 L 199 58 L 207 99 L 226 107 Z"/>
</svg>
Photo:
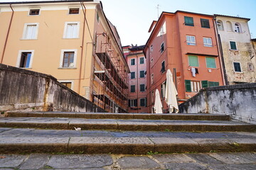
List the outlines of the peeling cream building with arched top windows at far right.
<svg viewBox="0 0 256 170">
<path fill-rule="evenodd" d="M 250 18 L 215 14 L 226 84 L 256 82 L 256 59 L 248 21 Z"/>
</svg>

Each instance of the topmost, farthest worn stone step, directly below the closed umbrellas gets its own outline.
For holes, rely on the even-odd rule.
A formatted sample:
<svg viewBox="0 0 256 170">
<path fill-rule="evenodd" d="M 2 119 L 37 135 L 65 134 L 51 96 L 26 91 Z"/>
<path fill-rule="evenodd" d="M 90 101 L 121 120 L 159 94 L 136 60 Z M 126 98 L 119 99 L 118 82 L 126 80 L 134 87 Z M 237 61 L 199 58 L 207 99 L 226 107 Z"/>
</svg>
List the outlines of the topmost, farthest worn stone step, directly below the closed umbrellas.
<svg viewBox="0 0 256 170">
<path fill-rule="evenodd" d="M 230 120 L 230 115 L 206 113 L 78 113 L 78 112 L 8 112 L 8 117 L 53 117 L 53 118 L 88 118 L 88 119 L 149 119 L 149 120 Z"/>
</svg>

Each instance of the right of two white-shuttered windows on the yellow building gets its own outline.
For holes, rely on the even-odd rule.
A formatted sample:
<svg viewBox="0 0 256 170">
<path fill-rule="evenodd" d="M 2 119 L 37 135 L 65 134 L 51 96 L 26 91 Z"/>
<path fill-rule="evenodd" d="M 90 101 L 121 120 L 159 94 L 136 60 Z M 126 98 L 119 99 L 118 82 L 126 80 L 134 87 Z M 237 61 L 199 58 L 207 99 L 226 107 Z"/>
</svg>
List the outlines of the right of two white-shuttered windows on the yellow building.
<svg viewBox="0 0 256 170">
<path fill-rule="evenodd" d="M 63 38 L 78 38 L 79 22 L 66 22 Z"/>
</svg>

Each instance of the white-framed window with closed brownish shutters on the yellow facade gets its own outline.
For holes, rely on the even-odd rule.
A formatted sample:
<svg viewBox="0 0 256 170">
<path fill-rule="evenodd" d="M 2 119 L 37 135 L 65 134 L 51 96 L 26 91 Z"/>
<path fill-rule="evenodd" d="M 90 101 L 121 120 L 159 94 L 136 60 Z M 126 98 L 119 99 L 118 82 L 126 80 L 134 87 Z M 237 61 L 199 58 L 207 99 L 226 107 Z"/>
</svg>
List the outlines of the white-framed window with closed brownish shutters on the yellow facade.
<svg viewBox="0 0 256 170">
<path fill-rule="evenodd" d="M 78 50 L 61 50 L 60 68 L 75 68 Z"/>
</svg>

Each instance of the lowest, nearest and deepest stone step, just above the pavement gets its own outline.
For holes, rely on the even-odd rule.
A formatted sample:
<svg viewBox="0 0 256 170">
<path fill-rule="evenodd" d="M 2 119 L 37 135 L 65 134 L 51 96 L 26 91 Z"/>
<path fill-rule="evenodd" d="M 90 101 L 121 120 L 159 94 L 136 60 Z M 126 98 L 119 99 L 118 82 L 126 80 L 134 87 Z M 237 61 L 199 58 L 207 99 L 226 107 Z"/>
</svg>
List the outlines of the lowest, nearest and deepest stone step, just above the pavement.
<svg viewBox="0 0 256 170">
<path fill-rule="evenodd" d="M 255 132 L 132 132 L 0 128 L 0 153 L 255 152 Z"/>
</svg>

